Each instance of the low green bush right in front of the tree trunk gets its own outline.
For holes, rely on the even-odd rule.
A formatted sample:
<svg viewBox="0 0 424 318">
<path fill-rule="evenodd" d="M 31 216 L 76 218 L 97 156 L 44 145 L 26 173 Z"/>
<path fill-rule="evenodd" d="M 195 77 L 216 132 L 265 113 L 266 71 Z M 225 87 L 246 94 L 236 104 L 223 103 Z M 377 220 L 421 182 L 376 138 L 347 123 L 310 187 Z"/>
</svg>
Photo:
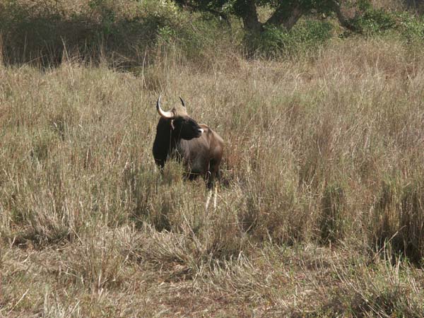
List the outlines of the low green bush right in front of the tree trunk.
<svg viewBox="0 0 424 318">
<path fill-rule="evenodd" d="M 331 38 L 333 26 L 327 21 L 302 20 L 287 31 L 275 25 L 264 27 L 264 32 L 249 34 L 245 42 L 249 52 L 264 57 L 279 57 L 314 51 Z"/>
</svg>

